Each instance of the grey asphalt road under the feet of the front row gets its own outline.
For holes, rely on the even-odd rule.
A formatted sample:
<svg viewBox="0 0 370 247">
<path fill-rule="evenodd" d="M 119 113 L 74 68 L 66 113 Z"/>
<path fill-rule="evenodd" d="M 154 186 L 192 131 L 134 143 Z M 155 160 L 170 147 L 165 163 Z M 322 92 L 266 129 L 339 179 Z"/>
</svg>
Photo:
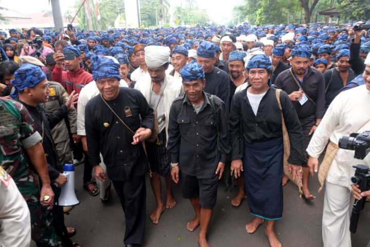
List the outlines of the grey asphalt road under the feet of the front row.
<svg viewBox="0 0 370 247">
<path fill-rule="evenodd" d="M 112 200 L 103 204 L 99 196 L 92 197 L 82 188 L 83 165 L 76 167 L 76 195 L 80 200 L 69 215 L 65 216 L 67 226 L 76 227 L 77 234 L 72 237 L 83 247 L 124 246 L 124 214 L 112 186 Z M 164 181 L 162 180 L 162 184 Z M 163 187 L 163 185 L 162 185 Z M 275 222 L 275 232 L 283 246 L 323 246 L 321 234 L 321 219 L 324 192 L 318 193 L 317 175 L 311 178 L 309 188 L 316 199 L 305 201 L 299 197 L 297 187 L 289 182 L 284 187 L 283 218 Z M 194 210 L 189 202 L 181 198 L 179 185 L 174 185 L 174 196 L 177 204 L 172 209 L 166 209 L 158 225 L 151 223 L 149 216 L 155 209 L 155 198 L 150 187 L 149 175 L 146 179 L 147 207 L 145 237 L 141 246 L 198 246 L 197 235 L 199 227 L 190 233 L 187 222 L 193 219 Z M 163 198 L 164 198 L 164 188 Z M 208 231 L 208 241 L 212 247 L 224 246 L 269 246 L 265 236 L 266 223 L 260 226 L 254 234 L 247 234 L 245 225 L 253 216 L 249 212 L 247 200 L 239 207 L 233 207 L 231 200 L 237 189 L 225 192 L 225 185 L 219 182 L 217 205 Z M 368 232 L 370 225 L 370 203 L 366 203 L 361 212 L 358 231 L 352 236 L 354 247 L 363 247 L 370 240 Z"/>
</svg>

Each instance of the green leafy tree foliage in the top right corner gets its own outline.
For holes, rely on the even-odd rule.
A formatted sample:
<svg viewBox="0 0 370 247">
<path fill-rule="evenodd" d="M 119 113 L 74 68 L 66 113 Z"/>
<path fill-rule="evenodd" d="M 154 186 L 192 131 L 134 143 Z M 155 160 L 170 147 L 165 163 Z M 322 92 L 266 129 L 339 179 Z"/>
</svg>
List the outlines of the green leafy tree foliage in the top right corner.
<svg viewBox="0 0 370 247">
<path fill-rule="evenodd" d="M 367 21 L 370 19 L 369 0 L 337 0 L 336 8 L 343 21 Z"/>
</svg>

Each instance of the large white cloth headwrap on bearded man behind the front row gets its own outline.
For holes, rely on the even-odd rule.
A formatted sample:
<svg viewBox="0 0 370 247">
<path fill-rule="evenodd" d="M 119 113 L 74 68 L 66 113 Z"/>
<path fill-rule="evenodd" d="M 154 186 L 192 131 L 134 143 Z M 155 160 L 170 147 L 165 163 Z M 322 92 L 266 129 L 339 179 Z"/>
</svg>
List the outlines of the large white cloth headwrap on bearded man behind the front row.
<svg viewBox="0 0 370 247">
<path fill-rule="evenodd" d="M 171 50 L 168 46 L 150 45 L 144 48 L 146 66 L 159 68 L 170 62 Z"/>
</svg>

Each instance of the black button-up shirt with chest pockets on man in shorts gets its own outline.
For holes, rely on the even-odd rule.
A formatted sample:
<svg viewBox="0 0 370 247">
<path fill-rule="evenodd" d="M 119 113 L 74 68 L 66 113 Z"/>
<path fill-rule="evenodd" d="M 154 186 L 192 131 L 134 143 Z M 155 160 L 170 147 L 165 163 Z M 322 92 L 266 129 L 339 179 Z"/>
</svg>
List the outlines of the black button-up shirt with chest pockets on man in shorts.
<svg viewBox="0 0 370 247">
<path fill-rule="evenodd" d="M 226 163 L 231 149 L 224 102 L 214 97 L 215 118 L 211 95 L 203 95 L 204 103 L 198 114 L 186 95 L 174 100 L 167 141 L 171 162 L 179 163 L 181 172 L 198 179 L 213 178 L 218 162 Z M 220 135 L 220 151 L 217 150 L 216 125 Z"/>
</svg>

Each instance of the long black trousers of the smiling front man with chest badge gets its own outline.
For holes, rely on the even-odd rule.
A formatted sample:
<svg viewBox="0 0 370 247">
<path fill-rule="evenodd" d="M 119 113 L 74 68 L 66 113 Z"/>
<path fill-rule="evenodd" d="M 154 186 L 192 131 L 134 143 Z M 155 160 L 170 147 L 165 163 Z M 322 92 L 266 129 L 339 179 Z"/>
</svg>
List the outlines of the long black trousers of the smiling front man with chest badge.
<svg viewBox="0 0 370 247">
<path fill-rule="evenodd" d="M 125 214 L 125 244 L 141 244 L 146 214 L 145 175 L 127 181 L 112 181 Z"/>
</svg>

